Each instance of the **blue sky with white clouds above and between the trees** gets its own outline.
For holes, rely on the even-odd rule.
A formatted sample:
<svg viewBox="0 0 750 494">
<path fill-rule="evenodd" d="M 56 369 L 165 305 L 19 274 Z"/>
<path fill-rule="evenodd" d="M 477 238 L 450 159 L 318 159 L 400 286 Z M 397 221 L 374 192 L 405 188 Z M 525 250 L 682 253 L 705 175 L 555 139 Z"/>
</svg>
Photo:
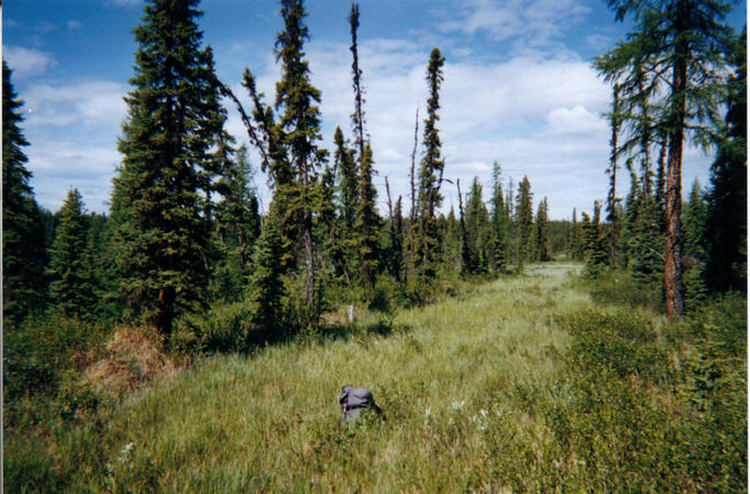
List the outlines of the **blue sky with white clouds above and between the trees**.
<svg viewBox="0 0 750 494">
<path fill-rule="evenodd" d="M 352 136 L 351 1 L 308 0 L 306 7 L 306 56 L 322 92 L 322 145 L 332 150 L 337 125 Z M 249 67 L 273 101 L 278 2 L 203 0 L 199 8 L 219 79 L 250 107 L 240 85 Z M 143 1 L 11 0 L 0 9 L 2 56 L 24 101 L 21 127 L 36 200 L 56 211 L 75 187 L 89 211 L 107 212 Z M 424 76 L 435 46 L 445 57 L 438 129 L 446 178 L 460 179 L 465 193 L 478 177 L 488 200 L 497 161 L 515 190 L 528 176 L 534 205 L 547 197 L 551 219 L 570 219 L 573 208 L 591 211 L 606 198 L 610 131 L 603 113 L 611 89 L 592 59 L 624 40 L 629 26 L 615 22 L 604 0 L 360 0 L 360 11 L 366 132 L 382 211 L 386 177 L 394 202 L 399 195 L 409 200 L 415 114 L 419 109 L 421 151 Z M 746 20 L 740 0 L 729 22 L 739 29 Z M 228 130 L 247 142 L 233 105 L 225 106 Z M 695 179 L 708 184 L 712 161 L 710 152 L 685 145 L 684 190 Z M 260 171 L 255 182 L 266 208 L 271 193 Z M 441 191 L 443 211 L 457 210 L 455 185 L 444 183 Z"/>
</svg>

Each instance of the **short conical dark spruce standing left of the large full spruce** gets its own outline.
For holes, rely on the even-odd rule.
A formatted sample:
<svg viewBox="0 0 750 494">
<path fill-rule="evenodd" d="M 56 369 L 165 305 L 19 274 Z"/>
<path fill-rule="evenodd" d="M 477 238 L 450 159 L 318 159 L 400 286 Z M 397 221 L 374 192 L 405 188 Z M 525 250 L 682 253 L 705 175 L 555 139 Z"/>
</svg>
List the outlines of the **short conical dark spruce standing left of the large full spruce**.
<svg viewBox="0 0 750 494">
<path fill-rule="evenodd" d="M 84 317 L 96 306 L 93 265 L 88 244 L 88 217 L 77 189 L 70 189 L 59 211 L 49 249 L 49 296 L 65 315 Z"/>
</svg>

